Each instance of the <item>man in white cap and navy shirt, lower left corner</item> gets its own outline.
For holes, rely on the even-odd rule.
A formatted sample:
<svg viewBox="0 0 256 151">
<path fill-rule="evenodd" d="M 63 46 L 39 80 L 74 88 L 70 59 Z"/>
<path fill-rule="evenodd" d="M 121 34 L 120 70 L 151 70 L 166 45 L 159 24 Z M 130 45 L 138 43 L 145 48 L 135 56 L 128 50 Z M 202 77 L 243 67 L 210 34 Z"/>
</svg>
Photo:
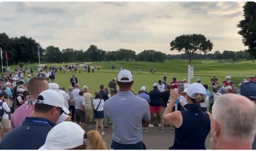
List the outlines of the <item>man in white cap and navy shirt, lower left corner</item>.
<svg viewBox="0 0 256 151">
<path fill-rule="evenodd" d="M 47 82 L 46 79 L 45 82 Z M 39 149 L 44 145 L 48 132 L 56 125 L 55 123 L 63 112 L 69 113 L 64 107 L 64 98 L 61 93 L 55 90 L 42 91 L 36 98 L 33 116 L 26 117 L 21 126 L 9 132 L 1 141 L 0 149 Z M 15 145 L 7 145 L 10 142 L 15 142 Z"/>
</svg>

